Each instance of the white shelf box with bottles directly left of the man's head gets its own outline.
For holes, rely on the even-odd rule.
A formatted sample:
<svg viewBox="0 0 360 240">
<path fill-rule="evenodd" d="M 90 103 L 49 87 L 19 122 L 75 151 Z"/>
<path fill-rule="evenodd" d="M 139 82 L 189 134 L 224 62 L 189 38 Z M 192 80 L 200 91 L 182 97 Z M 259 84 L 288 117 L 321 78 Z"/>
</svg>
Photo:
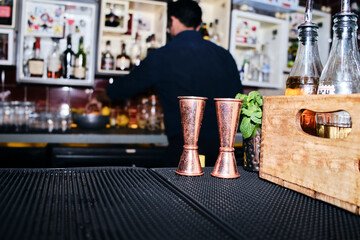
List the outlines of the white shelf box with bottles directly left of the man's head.
<svg viewBox="0 0 360 240">
<path fill-rule="evenodd" d="M 104 24 L 99 26 L 97 74 L 111 76 L 128 74 L 140 64 L 148 52 L 166 43 L 166 2 L 153 0 L 126 2 L 128 10 L 124 16 L 124 19 L 127 19 L 124 31 L 109 31 Z M 117 3 L 122 4 L 123 1 L 102 1 L 100 18 L 105 19 L 109 4 Z"/>
</svg>

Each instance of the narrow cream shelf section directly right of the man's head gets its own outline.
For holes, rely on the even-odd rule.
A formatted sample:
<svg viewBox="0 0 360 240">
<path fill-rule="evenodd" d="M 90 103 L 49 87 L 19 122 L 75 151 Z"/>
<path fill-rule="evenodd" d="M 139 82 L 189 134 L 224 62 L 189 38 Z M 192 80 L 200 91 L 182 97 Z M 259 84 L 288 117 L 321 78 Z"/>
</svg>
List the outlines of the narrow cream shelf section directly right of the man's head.
<svg viewBox="0 0 360 240">
<path fill-rule="evenodd" d="M 202 0 L 199 5 L 209 40 L 229 49 L 231 0 Z"/>
</svg>

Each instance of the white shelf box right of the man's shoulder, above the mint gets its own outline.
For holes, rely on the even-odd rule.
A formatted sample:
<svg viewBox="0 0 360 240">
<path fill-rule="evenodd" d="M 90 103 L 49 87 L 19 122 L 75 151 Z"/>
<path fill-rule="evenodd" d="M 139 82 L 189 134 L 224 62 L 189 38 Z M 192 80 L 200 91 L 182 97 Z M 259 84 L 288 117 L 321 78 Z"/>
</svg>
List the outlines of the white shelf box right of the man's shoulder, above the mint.
<svg viewBox="0 0 360 240">
<path fill-rule="evenodd" d="M 244 86 L 281 88 L 287 43 L 287 21 L 232 10 L 229 51 Z"/>
</svg>

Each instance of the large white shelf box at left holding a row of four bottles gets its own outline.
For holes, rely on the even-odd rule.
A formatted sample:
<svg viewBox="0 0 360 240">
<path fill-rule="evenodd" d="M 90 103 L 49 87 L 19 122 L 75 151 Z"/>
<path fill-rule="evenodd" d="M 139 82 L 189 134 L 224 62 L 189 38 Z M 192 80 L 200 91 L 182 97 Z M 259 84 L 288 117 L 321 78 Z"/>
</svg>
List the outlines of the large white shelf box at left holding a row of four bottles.
<svg viewBox="0 0 360 240">
<path fill-rule="evenodd" d="M 24 0 L 17 81 L 92 86 L 96 3 Z"/>
</svg>

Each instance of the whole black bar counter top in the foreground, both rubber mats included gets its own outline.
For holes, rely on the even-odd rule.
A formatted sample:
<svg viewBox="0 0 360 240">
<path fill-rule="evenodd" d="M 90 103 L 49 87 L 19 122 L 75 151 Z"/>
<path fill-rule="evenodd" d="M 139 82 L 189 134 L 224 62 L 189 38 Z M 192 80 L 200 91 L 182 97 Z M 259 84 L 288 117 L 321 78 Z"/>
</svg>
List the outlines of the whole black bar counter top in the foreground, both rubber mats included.
<svg viewBox="0 0 360 240">
<path fill-rule="evenodd" d="M 360 216 L 262 180 L 171 168 L 0 169 L 2 239 L 360 239 Z"/>
</svg>

